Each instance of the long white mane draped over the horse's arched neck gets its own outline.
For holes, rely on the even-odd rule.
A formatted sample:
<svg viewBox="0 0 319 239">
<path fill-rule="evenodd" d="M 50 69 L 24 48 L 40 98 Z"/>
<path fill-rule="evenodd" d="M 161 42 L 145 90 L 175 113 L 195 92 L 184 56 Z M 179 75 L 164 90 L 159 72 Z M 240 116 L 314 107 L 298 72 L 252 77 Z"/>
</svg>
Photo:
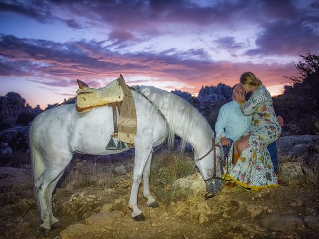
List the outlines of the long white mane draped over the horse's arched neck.
<svg viewBox="0 0 319 239">
<path fill-rule="evenodd" d="M 138 91 L 146 95 L 153 102 L 155 109 L 165 116 L 168 124 L 168 147 L 174 144 L 177 122 L 183 121 L 181 151 L 184 150 L 190 135 L 203 145 L 208 145 L 214 133 L 207 120 L 187 101 L 170 92 L 153 86 L 140 86 Z"/>
</svg>

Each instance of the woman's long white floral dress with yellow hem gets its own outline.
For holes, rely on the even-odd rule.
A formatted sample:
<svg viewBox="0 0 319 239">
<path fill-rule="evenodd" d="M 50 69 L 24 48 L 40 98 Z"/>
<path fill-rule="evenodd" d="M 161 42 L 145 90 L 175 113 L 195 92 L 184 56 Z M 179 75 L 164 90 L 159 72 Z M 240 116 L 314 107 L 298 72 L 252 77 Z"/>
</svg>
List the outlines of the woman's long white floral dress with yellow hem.
<svg viewBox="0 0 319 239">
<path fill-rule="evenodd" d="M 252 124 L 243 135 L 251 136 L 236 165 L 229 160 L 226 179 L 251 190 L 276 187 L 277 178 L 267 145 L 279 138 L 281 126 L 267 89 L 264 86 L 258 87 L 248 102 L 240 105 L 240 110 L 246 116 L 252 115 Z M 234 143 L 228 158 L 233 158 L 233 147 Z"/>
</svg>

